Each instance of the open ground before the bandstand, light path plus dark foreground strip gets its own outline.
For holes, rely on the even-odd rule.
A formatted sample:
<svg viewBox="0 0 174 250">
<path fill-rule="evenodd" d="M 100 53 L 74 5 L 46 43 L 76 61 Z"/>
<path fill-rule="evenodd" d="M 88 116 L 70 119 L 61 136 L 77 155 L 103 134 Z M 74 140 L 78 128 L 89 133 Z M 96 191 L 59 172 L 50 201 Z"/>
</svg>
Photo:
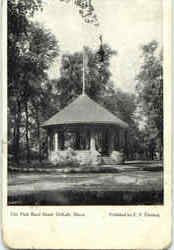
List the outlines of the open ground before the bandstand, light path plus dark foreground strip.
<svg viewBox="0 0 174 250">
<path fill-rule="evenodd" d="M 65 168 L 66 169 L 66 168 Z M 101 172 L 9 172 L 9 205 L 152 205 L 163 202 L 161 162 L 101 166 Z"/>
</svg>

